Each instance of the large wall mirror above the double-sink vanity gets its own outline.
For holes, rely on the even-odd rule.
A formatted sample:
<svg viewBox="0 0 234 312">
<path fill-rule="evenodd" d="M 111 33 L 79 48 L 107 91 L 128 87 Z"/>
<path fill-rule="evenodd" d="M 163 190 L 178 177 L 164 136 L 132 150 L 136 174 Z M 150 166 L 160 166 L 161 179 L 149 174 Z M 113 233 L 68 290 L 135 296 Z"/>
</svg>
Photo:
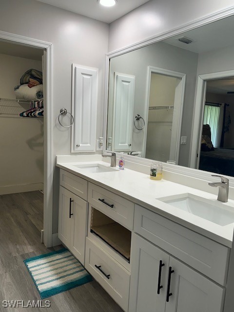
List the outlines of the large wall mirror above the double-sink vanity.
<svg viewBox="0 0 234 312">
<path fill-rule="evenodd" d="M 234 17 L 113 57 L 107 150 L 234 176 Z"/>
</svg>

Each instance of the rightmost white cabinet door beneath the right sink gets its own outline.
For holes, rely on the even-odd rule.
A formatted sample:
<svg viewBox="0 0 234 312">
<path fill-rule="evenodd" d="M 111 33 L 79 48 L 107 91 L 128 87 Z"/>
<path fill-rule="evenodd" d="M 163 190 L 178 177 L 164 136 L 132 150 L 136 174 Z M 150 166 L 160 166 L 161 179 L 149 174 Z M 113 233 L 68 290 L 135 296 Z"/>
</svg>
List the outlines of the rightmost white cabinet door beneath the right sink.
<svg viewBox="0 0 234 312">
<path fill-rule="evenodd" d="M 165 312 L 221 312 L 224 288 L 170 257 L 171 285 Z M 170 276 L 169 276 L 170 279 Z"/>
</svg>

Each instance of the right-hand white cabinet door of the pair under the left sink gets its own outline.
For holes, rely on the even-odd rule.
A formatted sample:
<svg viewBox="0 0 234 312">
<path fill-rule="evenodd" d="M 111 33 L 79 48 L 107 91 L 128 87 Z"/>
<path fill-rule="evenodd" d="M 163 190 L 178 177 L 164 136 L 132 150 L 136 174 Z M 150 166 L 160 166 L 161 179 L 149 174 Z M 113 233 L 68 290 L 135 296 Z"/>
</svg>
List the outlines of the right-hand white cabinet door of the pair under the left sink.
<svg viewBox="0 0 234 312">
<path fill-rule="evenodd" d="M 87 233 L 88 207 L 87 201 L 72 195 L 71 205 L 71 243 L 70 250 L 84 265 L 85 237 Z"/>
</svg>

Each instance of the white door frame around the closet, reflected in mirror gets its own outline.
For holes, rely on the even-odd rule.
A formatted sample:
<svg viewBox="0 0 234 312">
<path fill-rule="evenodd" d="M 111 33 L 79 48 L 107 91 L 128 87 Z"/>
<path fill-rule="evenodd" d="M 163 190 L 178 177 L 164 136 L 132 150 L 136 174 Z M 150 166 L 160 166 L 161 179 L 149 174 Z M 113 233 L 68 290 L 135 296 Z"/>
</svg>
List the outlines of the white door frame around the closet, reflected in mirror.
<svg viewBox="0 0 234 312">
<path fill-rule="evenodd" d="M 172 139 L 170 143 L 170 157 L 171 157 L 171 148 L 173 143 L 173 149 L 174 149 L 174 159 L 170 160 L 176 160 L 176 164 L 179 160 L 179 146 L 180 146 L 180 134 L 181 134 L 181 123 L 182 123 L 182 114 L 183 114 L 183 104 L 184 104 L 184 92 L 185 92 L 185 80 L 186 80 L 186 74 L 174 72 L 168 69 L 158 68 L 154 66 L 148 66 L 147 71 L 147 82 L 146 82 L 146 100 L 145 100 L 145 129 L 143 134 L 143 148 L 142 148 L 142 157 L 145 157 L 146 152 L 146 140 L 147 140 L 147 128 L 148 128 L 148 115 L 149 115 L 149 100 L 150 100 L 150 83 L 151 83 L 151 74 L 161 74 L 165 76 L 170 76 L 174 78 L 180 78 L 181 81 L 179 82 L 178 86 L 176 87 L 176 95 L 175 95 L 175 102 L 178 103 L 177 108 L 173 112 L 173 123 L 174 128 L 172 130 Z M 176 134 L 175 137 L 173 137 L 173 133 Z M 169 160 L 169 159 L 168 159 Z"/>
</svg>

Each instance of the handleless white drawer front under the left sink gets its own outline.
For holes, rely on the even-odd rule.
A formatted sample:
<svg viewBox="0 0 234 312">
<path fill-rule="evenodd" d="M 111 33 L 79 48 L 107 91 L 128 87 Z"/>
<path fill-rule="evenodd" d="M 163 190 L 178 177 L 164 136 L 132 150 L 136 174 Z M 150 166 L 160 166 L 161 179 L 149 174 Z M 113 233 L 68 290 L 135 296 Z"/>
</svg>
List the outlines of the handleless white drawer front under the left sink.
<svg viewBox="0 0 234 312">
<path fill-rule="evenodd" d="M 60 185 L 87 200 L 88 182 L 85 179 L 60 169 Z"/>
</svg>

